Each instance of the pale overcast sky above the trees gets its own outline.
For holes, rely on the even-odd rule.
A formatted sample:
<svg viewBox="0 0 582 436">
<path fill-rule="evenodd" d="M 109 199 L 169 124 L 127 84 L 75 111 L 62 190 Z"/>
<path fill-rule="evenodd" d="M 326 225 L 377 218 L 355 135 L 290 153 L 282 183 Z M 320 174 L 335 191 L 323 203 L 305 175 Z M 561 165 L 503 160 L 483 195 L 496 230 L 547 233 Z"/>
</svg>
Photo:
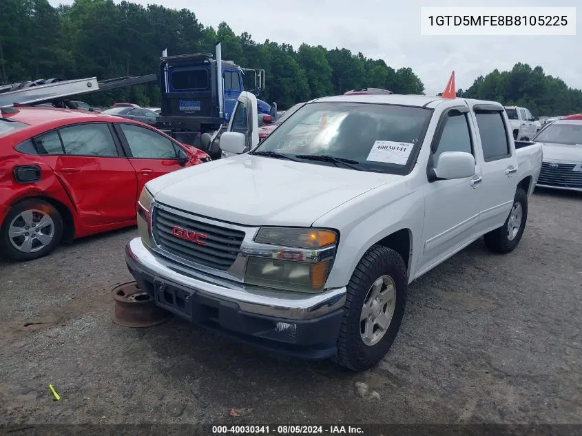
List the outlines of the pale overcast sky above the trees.
<svg viewBox="0 0 582 436">
<path fill-rule="evenodd" d="M 118 0 L 114 0 L 119 3 Z M 236 34 L 249 32 L 290 43 L 349 48 L 392 68 L 410 67 L 420 76 L 426 94 L 442 92 L 452 70 L 457 89 L 466 89 L 479 74 L 509 70 L 517 62 L 541 65 L 570 87 L 582 89 L 582 25 L 575 37 L 422 37 L 420 6 L 576 6 L 579 0 L 133 0 L 167 8 L 188 8 L 204 25 L 226 21 Z M 72 0 L 49 0 L 53 6 Z M 578 8 L 578 11 L 582 8 Z M 227 54 L 225 54 L 227 56 Z M 253 65 L 255 66 L 255 65 Z"/>
</svg>

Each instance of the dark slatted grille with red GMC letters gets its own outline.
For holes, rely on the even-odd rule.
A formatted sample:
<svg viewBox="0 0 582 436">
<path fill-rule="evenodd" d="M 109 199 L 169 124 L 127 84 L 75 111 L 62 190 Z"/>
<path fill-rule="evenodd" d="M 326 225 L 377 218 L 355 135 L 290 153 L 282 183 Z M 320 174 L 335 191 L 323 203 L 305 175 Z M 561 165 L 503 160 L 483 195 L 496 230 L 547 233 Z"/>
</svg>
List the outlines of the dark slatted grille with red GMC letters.
<svg viewBox="0 0 582 436">
<path fill-rule="evenodd" d="M 152 232 L 161 249 L 174 256 L 226 271 L 231 267 L 245 232 L 211 225 L 154 207 Z"/>
</svg>

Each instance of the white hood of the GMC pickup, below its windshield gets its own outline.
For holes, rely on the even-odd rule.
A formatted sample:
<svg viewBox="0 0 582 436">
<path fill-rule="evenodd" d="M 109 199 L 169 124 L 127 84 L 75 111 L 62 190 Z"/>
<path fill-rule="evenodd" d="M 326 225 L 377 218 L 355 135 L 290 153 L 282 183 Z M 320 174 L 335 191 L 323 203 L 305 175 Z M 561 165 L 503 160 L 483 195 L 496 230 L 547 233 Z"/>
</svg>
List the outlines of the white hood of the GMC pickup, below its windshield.
<svg viewBox="0 0 582 436">
<path fill-rule="evenodd" d="M 242 154 L 147 183 L 158 203 L 241 225 L 309 227 L 346 201 L 402 176 Z"/>
</svg>

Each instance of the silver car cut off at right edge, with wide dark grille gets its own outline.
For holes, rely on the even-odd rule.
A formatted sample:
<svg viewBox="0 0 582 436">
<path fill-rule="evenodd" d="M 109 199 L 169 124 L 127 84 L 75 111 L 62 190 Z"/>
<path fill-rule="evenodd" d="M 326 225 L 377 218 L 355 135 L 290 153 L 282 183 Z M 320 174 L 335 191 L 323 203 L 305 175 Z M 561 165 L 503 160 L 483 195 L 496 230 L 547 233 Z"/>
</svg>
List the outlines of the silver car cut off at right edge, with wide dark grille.
<svg viewBox="0 0 582 436">
<path fill-rule="evenodd" d="M 541 143 L 543 149 L 536 185 L 582 192 L 582 121 L 554 121 L 533 141 Z"/>
</svg>

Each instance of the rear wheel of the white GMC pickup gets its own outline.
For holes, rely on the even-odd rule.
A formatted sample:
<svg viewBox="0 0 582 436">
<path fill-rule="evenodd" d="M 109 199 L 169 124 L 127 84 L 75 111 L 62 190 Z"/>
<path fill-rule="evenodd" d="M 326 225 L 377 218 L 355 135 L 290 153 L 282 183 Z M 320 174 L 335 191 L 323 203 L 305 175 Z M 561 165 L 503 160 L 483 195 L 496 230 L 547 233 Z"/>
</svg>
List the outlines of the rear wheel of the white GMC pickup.
<svg viewBox="0 0 582 436">
<path fill-rule="evenodd" d="M 484 237 L 486 247 L 502 254 L 515 250 L 526 229 L 527 220 L 528 194 L 522 188 L 517 188 L 506 222 L 499 229 L 486 233 Z"/>
</svg>

